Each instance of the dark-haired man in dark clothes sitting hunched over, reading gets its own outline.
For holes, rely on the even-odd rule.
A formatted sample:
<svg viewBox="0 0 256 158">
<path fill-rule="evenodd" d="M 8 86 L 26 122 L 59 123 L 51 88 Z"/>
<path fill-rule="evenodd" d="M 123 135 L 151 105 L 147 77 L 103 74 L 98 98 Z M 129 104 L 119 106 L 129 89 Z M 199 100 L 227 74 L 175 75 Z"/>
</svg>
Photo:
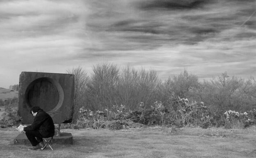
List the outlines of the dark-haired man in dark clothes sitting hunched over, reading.
<svg viewBox="0 0 256 158">
<path fill-rule="evenodd" d="M 28 150 L 38 150 L 44 147 L 43 138 L 54 135 L 54 124 L 51 116 L 37 106 L 31 108 L 31 113 L 35 117 L 33 123 L 30 126 L 21 128 L 19 131 L 25 131 L 28 140 L 33 146 Z"/>
</svg>

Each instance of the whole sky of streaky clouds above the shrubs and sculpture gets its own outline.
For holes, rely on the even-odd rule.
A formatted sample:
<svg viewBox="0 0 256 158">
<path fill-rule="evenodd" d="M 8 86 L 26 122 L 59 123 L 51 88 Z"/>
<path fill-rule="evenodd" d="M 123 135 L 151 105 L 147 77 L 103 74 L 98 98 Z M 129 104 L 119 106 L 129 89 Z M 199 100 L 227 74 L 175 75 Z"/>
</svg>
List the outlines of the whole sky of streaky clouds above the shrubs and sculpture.
<svg viewBox="0 0 256 158">
<path fill-rule="evenodd" d="M 256 77 L 256 0 L 1 0 L 0 87 L 103 62 Z"/>
</svg>

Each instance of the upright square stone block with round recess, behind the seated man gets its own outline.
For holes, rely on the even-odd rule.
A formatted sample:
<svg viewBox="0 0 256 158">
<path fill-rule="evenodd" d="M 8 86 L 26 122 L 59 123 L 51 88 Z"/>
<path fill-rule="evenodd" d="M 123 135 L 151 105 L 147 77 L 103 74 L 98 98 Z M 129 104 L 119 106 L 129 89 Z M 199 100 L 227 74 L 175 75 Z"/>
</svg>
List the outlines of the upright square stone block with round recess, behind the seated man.
<svg viewBox="0 0 256 158">
<path fill-rule="evenodd" d="M 74 75 L 64 73 L 21 72 L 18 115 L 23 124 L 32 124 L 30 108 L 39 106 L 51 115 L 54 124 L 72 120 Z"/>
</svg>

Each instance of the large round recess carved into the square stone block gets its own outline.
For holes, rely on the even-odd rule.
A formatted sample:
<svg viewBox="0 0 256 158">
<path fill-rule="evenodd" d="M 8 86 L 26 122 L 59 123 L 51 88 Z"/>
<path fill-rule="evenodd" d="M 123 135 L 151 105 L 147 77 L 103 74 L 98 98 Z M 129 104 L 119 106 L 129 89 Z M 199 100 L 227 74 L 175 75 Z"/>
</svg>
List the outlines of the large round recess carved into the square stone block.
<svg viewBox="0 0 256 158">
<path fill-rule="evenodd" d="M 25 100 L 29 108 L 39 106 L 45 112 L 53 113 L 61 107 L 64 92 L 52 78 L 37 78 L 28 85 Z"/>
</svg>

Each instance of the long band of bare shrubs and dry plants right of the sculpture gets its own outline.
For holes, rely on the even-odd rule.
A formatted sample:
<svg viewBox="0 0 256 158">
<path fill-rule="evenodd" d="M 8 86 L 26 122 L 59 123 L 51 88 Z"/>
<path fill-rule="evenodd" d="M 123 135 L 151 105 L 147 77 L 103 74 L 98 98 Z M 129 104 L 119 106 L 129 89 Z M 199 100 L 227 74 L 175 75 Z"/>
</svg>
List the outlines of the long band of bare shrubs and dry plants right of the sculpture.
<svg viewBox="0 0 256 158">
<path fill-rule="evenodd" d="M 90 76 L 81 67 L 67 72 L 76 78 L 74 122 L 80 108 L 108 115 L 110 111 L 113 113 L 113 106 L 123 105 L 126 111 L 115 108 L 114 112 L 127 115 L 130 112 L 128 118 L 140 117 L 142 124 L 242 128 L 256 123 L 253 77 L 242 79 L 224 72 L 212 80 L 199 82 L 196 75 L 184 70 L 162 81 L 154 70 L 136 70 L 129 65 L 120 69 L 111 63 L 93 66 Z M 187 103 L 180 103 L 183 98 L 188 99 Z M 224 113 L 228 110 L 249 115 L 230 115 L 227 120 Z"/>
</svg>

